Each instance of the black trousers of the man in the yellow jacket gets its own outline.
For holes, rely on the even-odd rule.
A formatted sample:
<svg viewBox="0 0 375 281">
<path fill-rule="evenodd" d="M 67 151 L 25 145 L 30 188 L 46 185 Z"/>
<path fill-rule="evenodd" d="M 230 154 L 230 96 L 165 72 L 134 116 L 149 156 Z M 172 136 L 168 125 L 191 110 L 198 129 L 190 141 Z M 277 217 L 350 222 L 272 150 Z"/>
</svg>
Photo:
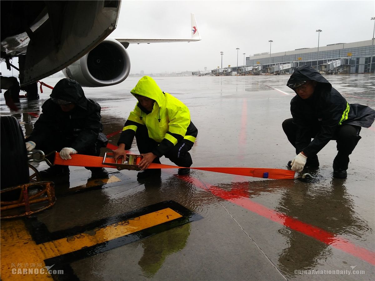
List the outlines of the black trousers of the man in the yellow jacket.
<svg viewBox="0 0 375 281">
<path fill-rule="evenodd" d="M 146 126 L 138 126 L 135 133 L 135 139 L 139 153 L 152 152 L 159 143 L 148 137 L 148 131 Z M 191 155 L 188 152 L 192 146 L 184 141 L 178 142 L 172 147 L 164 156 L 171 160 L 174 164 L 180 167 L 190 167 L 193 164 Z M 160 163 L 159 157 L 156 157 L 153 163 Z"/>
</svg>

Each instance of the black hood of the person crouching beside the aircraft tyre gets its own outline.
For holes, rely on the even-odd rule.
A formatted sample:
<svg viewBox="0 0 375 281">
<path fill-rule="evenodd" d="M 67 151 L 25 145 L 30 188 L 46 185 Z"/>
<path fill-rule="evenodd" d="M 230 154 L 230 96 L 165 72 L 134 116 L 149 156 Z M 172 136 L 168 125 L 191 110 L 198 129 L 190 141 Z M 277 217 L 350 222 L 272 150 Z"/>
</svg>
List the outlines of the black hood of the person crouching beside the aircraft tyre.
<svg viewBox="0 0 375 281">
<path fill-rule="evenodd" d="M 87 99 L 81 85 L 72 79 L 63 78 L 58 81 L 49 96 L 52 100 L 72 102 L 84 109 L 87 107 Z"/>
</svg>

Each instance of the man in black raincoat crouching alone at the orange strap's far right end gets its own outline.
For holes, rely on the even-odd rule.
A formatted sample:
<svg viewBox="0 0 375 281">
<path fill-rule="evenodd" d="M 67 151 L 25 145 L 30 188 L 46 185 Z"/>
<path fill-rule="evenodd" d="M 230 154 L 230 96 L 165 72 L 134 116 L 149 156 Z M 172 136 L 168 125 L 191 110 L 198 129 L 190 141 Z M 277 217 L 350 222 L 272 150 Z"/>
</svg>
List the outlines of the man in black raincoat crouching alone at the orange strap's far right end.
<svg viewBox="0 0 375 281">
<path fill-rule="evenodd" d="M 318 167 L 317 153 L 330 140 L 336 140 L 333 176 L 347 178 L 349 155 L 361 139 L 361 127 L 368 128 L 374 122 L 374 109 L 349 104 L 326 78 L 307 65 L 294 70 L 287 86 L 297 94 L 290 103 L 293 118 L 282 123 L 297 154 L 288 165 L 296 172 Z"/>
</svg>

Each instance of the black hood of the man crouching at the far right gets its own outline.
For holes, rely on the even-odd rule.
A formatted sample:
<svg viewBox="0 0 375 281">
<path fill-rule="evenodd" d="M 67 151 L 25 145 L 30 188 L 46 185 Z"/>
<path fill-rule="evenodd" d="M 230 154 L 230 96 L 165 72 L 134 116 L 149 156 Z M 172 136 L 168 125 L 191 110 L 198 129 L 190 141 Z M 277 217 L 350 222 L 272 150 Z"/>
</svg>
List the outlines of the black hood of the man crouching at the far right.
<svg viewBox="0 0 375 281">
<path fill-rule="evenodd" d="M 297 67 L 293 74 L 290 76 L 287 86 L 291 89 L 298 87 L 298 85 L 303 85 L 303 81 L 317 81 L 322 87 L 327 90 L 331 90 L 332 85 L 323 77 L 317 70 L 313 69 L 311 66 L 302 65 Z"/>
</svg>

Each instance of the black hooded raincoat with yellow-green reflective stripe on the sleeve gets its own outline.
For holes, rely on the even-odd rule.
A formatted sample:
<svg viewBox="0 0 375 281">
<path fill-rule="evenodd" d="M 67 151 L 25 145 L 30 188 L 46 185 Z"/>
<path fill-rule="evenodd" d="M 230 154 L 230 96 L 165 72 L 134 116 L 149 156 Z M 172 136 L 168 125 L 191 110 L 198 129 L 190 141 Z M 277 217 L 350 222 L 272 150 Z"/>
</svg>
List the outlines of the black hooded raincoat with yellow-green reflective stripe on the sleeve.
<svg viewBox="0 0 375 281">
<path fill-rule="evenodd" d="M 338 126 L 350 124 L 368 128 L 374 123 L 375 111 L 365 105 L 349 104 L 317 70 L 299 66 L 290 76 L 288 87 L 301 81 L 317 81 L 314 94 L 308 99 L 295 96 L 290 103 L 293 123 L 297 125 L 296 151 L 308 157 L 317 154 L 333 139 Z M 293 88 L 293 87 L 291 87 Z M 320 131 L 311 141 L 309 129 Z"/>
</svg>

